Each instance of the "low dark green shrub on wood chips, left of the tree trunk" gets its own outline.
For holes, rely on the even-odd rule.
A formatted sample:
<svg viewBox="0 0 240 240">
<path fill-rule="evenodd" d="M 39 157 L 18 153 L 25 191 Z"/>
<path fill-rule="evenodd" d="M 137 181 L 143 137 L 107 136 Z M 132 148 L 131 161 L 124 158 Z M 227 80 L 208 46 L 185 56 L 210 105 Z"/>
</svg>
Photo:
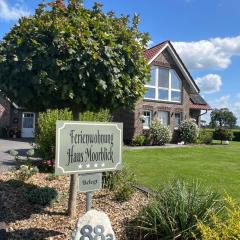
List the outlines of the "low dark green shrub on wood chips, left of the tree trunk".
<svg viewBox="0 0 240 240">
<path fill-rule="evenodd" d="M 30 203 L 46 206 L 51 205 L 57 199 L 58 192 L 49 187 L 30 188 L 26 196 Z"/>
</svg>

